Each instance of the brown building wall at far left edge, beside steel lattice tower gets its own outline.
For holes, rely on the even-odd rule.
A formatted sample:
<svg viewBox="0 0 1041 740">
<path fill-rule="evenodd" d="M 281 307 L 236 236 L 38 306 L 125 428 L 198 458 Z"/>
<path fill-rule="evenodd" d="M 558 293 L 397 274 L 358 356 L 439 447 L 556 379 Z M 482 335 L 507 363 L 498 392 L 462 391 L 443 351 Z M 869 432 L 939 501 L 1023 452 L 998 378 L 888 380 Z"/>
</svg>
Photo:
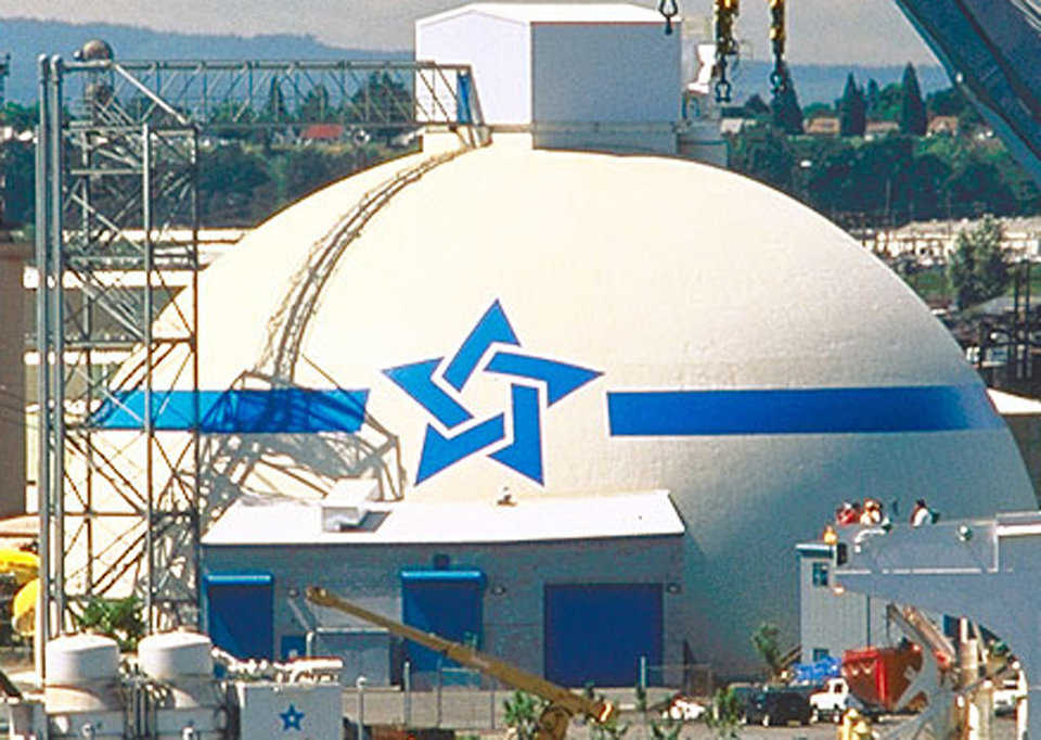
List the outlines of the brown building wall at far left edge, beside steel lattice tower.
<svg viewBox="0 0 1041 740">
<path fill-rule="evenodd" d="M 22 268 L 28 243 L 0 233 L 0 518 L 25 513 L 26 303 Z"/>
</svg>

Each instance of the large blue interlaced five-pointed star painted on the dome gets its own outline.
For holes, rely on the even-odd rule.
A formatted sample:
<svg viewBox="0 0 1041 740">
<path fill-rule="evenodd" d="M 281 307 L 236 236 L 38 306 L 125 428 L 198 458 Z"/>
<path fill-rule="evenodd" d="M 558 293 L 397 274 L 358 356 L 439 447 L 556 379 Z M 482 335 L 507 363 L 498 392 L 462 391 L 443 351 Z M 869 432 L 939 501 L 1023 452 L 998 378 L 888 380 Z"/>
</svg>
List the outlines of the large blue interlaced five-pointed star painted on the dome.
<svg viewBox="0 0 1041 740">
<path fill-rule="evenodd" d="M 502 445 L 507 439 L 504 412 L 466 424 L 473 422 L 474 414 L 457 400 L 458 394 L 462 393 L 493 344 L 520 347 L 520 341 L 498 301 L 480 317 L 447 365 L 444 357 L 436 357 L 383 371 L 446 430 L 442 434 L 433 424 L 426 425 L 416 485 L 481 451 L 487 451 L 492 460 L 541 484 L 542 403 L 539 384 L 545 386 L 545 406 L 550 407 L 603 374 L 577 365 L 519 352 L 493 352 L 483 371 L 517 379 L 510 385 L 513 429 L 509 437 L 512 441 Z M 452 434 L 451 430 L 464 424 L 462 431 Z"/>
</svg>

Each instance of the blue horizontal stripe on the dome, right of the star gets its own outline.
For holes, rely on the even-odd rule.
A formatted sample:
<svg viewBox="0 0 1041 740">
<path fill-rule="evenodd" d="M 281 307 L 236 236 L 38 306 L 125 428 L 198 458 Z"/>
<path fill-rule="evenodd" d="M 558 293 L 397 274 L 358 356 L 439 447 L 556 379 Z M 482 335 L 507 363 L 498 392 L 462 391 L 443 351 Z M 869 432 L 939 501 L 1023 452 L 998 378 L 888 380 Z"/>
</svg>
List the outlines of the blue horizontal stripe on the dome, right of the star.
<svg viewBox="0 0 1041 740">
<path fill-rule="evenodd" d="M 612 436 L 884 434 L 995 429 L 982 385 L 609 392 Z"/>
</svg>

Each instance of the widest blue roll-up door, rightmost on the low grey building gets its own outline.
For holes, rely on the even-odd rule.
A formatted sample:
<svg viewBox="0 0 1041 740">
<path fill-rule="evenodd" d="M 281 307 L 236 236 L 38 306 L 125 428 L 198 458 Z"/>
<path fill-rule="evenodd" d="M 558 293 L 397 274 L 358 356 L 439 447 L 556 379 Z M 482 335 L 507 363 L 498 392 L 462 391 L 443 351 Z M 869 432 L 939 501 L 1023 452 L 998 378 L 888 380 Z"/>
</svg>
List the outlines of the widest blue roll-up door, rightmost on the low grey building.
<svg viewBox="0 0 1041 740">
<path fill-rule="evenodd" d="M 634 686 L 640 656 L 661 664 L 660 584 L 545 587 L 545 677 L 564 686 Z"/>
</svg>

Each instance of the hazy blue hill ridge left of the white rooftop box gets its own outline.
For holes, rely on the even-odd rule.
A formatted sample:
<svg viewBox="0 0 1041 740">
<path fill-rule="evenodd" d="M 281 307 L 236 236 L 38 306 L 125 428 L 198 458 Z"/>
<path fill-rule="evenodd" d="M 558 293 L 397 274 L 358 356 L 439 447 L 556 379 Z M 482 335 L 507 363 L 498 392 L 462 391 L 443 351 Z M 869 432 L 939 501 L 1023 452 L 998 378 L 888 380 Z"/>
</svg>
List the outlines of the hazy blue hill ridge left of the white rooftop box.
<svg viewBox="0 0 1041 740">
<path fill-rule="evenodd" d="M 349 59 L 409 60 L 411 51 L 338 49 L 310 36 L 204 36 L 174 34 L 134 26 L 75 24 L 59 21 L 2 18 L 0 54 L 11 53 L 8 100 L 29 103 L 37 98 L 37 58 L 73 52 L 89 39 L 104 39 L 117 59 Z"/>
</svg>

